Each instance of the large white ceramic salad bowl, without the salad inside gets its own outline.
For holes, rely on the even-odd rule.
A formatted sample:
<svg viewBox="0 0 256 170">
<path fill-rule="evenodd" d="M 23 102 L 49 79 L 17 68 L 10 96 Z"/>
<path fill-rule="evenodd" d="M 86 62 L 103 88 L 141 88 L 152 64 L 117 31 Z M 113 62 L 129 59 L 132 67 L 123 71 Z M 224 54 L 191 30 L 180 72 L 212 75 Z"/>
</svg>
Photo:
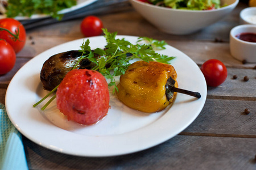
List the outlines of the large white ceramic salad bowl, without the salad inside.
<svg viewBox="0 0 256 170">
<path fill-rule="evenodd" d="M 176 10 L 159 7 L 138 0 L 130 0 L 133 7 L 163 32 L 174 35 L 186 35 L 208 27 L 228 15 L 239 0 L 221 0 L 221 5 L 228 5 L 216 10 Z"/>
</svg>

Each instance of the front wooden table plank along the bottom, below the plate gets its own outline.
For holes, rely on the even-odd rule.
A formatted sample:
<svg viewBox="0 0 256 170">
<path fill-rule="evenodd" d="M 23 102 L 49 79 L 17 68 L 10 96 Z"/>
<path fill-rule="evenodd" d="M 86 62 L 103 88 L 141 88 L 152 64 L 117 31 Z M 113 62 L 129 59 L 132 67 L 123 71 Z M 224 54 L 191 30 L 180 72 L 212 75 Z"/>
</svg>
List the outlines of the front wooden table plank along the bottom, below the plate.
<svg viewBox="0 0 256 170">
<path fill-rule="evenodd" d="M 24 138 L 30 169 L 255 169 L 256 139 L 177 135 L 135 154 L 82 158 Z M 125 147 L 125 146 L 124 146 Z M 97 148 L 95 148 L 97 150 Z M 188 168 L 189 167 L 189 168 Z"/>
</svg>

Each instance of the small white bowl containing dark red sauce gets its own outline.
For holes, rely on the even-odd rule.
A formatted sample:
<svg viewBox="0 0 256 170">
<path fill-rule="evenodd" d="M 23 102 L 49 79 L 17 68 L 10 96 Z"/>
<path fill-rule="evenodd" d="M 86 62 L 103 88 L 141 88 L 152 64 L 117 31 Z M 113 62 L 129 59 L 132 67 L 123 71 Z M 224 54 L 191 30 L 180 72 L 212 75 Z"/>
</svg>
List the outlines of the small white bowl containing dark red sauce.
<svg viewBox="0 0 256 170">
<path fill-rule="evenodd" d="M 231 55 L 240 60 L 250 63 L 256 62 L 256 42 L 247 42 L 238 39 L 236 36 L 241 33 L 255 33 L 256 25 L 246 24 L 238 25 L 230 31 L 230 53 Z"/>
</svg>

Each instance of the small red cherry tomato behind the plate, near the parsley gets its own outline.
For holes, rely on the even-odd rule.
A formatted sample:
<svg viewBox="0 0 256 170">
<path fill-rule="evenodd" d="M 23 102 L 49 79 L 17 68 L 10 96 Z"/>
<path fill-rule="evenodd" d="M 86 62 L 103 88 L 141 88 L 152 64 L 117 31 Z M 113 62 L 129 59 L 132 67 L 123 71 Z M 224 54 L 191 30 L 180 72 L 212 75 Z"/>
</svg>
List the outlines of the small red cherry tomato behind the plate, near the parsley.
<svg viewBox="0 0 256 170">
<path fill-rule="evenodd" d="M 102 28 L 103 23 L 96 16 L 87 16 L 80 25 L 81 32 L 85 37 L 101 35 Z"/>
</svg>

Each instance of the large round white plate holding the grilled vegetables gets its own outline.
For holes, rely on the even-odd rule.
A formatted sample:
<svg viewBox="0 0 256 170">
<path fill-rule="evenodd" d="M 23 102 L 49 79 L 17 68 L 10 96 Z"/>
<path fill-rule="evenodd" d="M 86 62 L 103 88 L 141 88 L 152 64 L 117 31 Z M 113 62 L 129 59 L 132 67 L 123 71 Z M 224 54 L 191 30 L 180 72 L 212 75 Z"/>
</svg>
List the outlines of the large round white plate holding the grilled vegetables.
<svg viewBox="0 0 256 170">
<path fill-rule="evenodd" d="M 132 43 L 138 37 L 124 37 Z M 158 145 L 179 134 L 199 115 L 207 96 L 207 85 L 199 67 L 184 53 L 167 45 L 159 53 L 176 56 L 172 65 L 180 88 L 200 92 L 201 98 L 177 94 L 175 103 L 158 113 L 142 113 L 123 105 L 110 89 L 108 115 L 96 125 L 82 126 L 67 121 L 56 101 L 44 112 L 32 105 L 47 91 L 40 83 L 40 70 L 56 53 L 79 49 L 82 39 L 67 42 L 39 54 L 26 63 L 11 80 L 6 92 L 6 109 L 15 127 L 31 141 L 57 152 L 79 156 L 129 154 Z M 104 48 L 105 38 L 90 38 L 90 46 Z M 40 105 L 42 107 L 42 105 Z"/>
</svg>

